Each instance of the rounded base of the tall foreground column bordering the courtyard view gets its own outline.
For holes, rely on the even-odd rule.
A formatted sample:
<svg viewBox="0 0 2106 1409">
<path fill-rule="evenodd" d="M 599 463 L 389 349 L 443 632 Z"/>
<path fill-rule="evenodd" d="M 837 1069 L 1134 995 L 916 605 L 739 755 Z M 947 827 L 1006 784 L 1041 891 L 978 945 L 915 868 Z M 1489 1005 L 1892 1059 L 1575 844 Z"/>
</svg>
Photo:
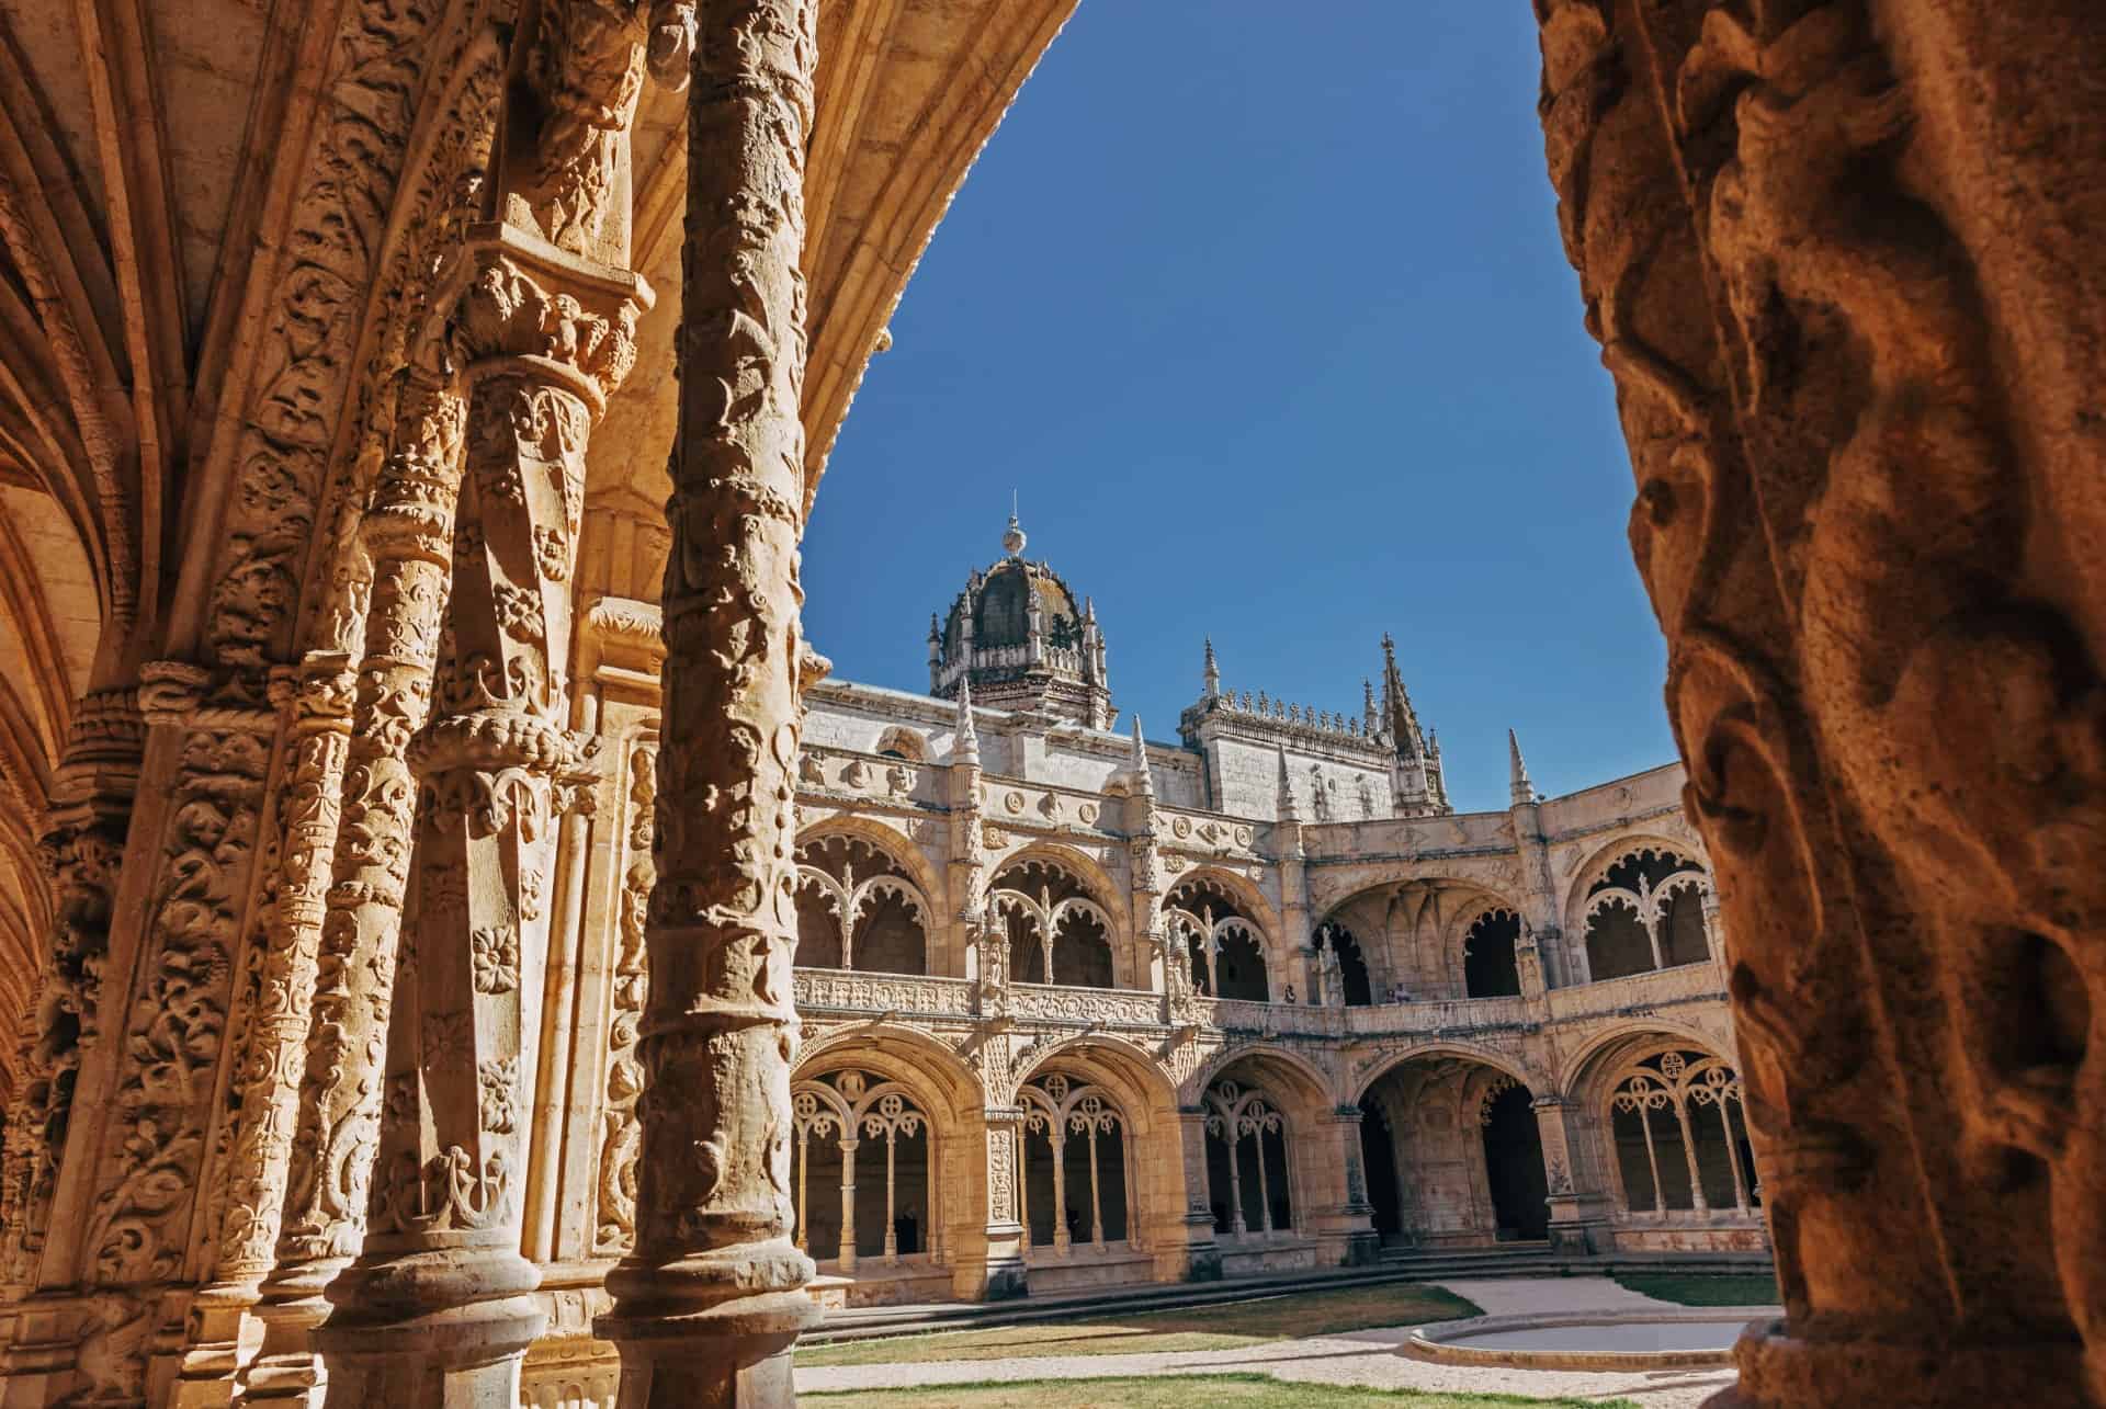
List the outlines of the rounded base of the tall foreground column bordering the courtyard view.
<svg viewBox="0 0 2106 1409">
<path fill-rule="evenodd" d="M 790 1350 L 819 1323 L 811 1274 L 788 1238 L 619 1264 L 592 1329 L 621 1352 L 623 1409 L 792 1409 Z"/>
</svg>

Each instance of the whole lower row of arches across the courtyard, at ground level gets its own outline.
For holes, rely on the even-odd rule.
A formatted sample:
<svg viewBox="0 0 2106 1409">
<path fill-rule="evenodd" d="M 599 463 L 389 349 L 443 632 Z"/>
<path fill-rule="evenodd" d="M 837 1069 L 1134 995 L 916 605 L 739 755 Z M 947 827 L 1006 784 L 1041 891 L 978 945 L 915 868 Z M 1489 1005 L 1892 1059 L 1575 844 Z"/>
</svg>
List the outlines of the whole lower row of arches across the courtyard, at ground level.
<svg viewBox="0 0 2106 1409">
<path fill-rule="evenodd" d="M 1740 1076 L 1685 1032 L 1626 1028 L 1552 1072 L 1438 1040 L 1360 1061 L 1234 1045 L 1181 1085 L 1116 1036 L 1015 1055 L 1015 1104 L 988 1106 L 975 1068 L 912 1028 L 813 1043 L 790 1171 L 813 1295 L 1047 1295 L 1386 1249 L 1765 1245 Z"/>
</svg>

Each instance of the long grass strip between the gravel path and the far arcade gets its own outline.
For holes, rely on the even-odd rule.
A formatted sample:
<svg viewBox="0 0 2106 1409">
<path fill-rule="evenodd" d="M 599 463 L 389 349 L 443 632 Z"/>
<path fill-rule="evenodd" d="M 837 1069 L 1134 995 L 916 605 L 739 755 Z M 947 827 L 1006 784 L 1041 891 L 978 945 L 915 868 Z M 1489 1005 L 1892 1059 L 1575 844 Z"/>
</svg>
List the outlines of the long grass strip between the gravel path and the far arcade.
<svg viewBox="0 0 2106 1409">
<path fill-rule="evenodd" d="M 1302 1335 L 1331 1335 L 1333 1331 L 1365 1331 L 1369 1327 L 1422 1325 L 1426 1321 L 1457 1321 L 1462 1316 L 1483 1316 L 1483 1310 L 1474 1302 L 1464 1302 L 1455 1293 L 1443 1291 L 1441 1287 L 1396 1283 L 1390 1287 L 1302 1291 L 1293 1295 L 1192 1306 L 1169 1312 L 1135 1312 L 1131 1316 L 1099 1316 L 1061 1323 L 1040 1321 L 1030 1325 L 988 1327 L 986 1331 L 937 1331 L 931 1335 L 855 1339 L 838 1346 L 811 1346 L 807 1350 L 798 1350 L 796 1363 L 895 1365 L 901 1361 L 1009 1361 L 1034 1354 L 1234 1350 L 1238 1346 L 1257 1346 L 1264 1342 L 1295 1339 Z M 973 1403 L 977 1405 L 981 1401 Z M 986 1403 L 994 1405 L 998 1401 Z"/>
</svg>

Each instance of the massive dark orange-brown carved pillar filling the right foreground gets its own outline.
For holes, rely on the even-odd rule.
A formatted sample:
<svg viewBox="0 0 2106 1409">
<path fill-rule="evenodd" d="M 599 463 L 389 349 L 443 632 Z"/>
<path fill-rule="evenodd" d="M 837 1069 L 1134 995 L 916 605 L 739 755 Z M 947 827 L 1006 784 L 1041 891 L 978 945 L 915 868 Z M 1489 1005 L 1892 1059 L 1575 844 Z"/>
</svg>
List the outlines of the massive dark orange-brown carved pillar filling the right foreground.
<svg viewBox="0 0 2106 1409">
<path fill-rule="evenodd" d="M 1723 1398 L 2102 1405 L 2106 13 L 1537 13 L 1788 1310 Z"/>
</svg>

